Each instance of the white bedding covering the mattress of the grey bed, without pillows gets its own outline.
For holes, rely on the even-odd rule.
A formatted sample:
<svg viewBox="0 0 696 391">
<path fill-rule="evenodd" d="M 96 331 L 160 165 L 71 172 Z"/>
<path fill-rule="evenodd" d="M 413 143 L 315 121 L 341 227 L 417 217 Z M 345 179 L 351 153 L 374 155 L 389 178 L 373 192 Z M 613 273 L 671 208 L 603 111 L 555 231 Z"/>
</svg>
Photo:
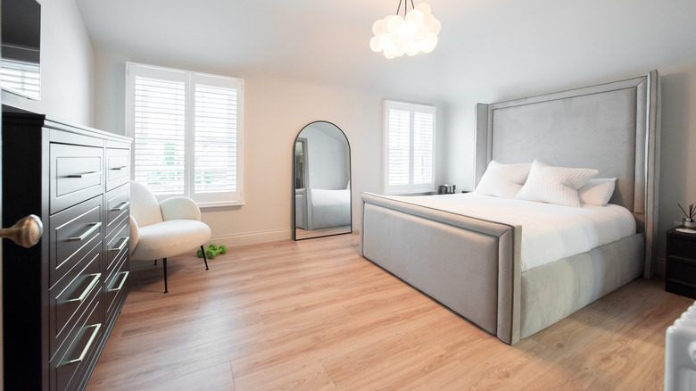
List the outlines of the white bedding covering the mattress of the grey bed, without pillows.
<svg viewBox="0 0 696 391">
<path fill-rule="evenodd" d="M 615 204 L 575 208 L 472 193 L 392 198 L 482 220 L 522 226 L 523 272 L 635 234 L 633 214 Z"/>
</svg>

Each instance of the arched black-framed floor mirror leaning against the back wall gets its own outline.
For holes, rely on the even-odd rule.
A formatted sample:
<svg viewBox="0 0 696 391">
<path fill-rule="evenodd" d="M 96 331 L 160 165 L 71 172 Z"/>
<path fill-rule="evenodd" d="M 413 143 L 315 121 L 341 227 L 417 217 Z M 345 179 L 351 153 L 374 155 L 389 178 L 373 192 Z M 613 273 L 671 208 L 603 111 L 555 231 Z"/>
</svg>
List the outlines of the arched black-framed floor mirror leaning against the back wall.
<svg viewBox="0 0 696 391">
<path fill-rule="evenodd" d="M 294 240 L 352 232 L 351 147 L 343 130 L 311 122 L 293 145 Z"/>
</svg>

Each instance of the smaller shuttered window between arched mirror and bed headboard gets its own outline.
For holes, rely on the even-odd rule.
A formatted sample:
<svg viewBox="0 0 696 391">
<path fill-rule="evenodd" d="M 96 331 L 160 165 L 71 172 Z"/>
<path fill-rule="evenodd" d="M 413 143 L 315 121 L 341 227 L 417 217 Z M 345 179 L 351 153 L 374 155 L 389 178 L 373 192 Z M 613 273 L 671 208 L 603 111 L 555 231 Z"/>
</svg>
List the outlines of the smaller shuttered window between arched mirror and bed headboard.
<svg viewBox="0 0 696 391">
<path fill-rule="evenodd" d="M 435 107 L 385 101 L 385 194 L 435 190 Z"/>
</svg>

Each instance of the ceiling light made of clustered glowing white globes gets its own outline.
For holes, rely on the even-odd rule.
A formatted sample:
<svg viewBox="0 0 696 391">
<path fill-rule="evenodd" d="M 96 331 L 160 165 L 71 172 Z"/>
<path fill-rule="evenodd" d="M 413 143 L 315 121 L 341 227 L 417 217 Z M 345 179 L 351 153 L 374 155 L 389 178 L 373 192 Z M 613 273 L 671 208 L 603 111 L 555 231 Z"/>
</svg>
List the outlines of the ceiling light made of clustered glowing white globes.
<svg viewBox="0 0 696 391">
<path fill-rule="evenodd" d="M 437 45 L 440 21 L 430 12 L 430 5 L 420 3 L 406 12 L 409 0 L 399 0 L 395 15 L 386 15 L 375 21 L 372 32 L 375 37 L 369 41 L 369 47 L 375 52 L 384 52 L 386 58 L 403 54 L 415 55 L 418 52 L 430 53 Z M 403 16 L 399 15 L 403 3 Z"/>
</svg>

